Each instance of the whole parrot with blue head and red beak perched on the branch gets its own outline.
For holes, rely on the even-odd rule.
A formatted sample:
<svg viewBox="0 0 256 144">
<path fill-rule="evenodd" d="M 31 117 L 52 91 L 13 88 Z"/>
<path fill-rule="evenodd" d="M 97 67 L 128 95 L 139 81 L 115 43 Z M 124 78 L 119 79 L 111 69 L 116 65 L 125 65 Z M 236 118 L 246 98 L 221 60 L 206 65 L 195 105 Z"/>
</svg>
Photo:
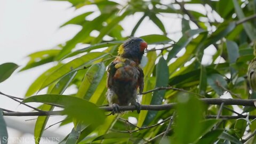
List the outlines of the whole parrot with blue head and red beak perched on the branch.
<svg viewBox="0 0 256 144">
<path fill-rule="evenodd" d="M 144 74 L 141 59 L 148 44 L 139 37 L 131 37 L 118 47 L 118 55 L 108 66 L 107 100 L 113 106 L 111 114 L 120 113 L 119 106 L 134 105 L 140 113 L 138 92 L 142 93 Z"/>
</svg>

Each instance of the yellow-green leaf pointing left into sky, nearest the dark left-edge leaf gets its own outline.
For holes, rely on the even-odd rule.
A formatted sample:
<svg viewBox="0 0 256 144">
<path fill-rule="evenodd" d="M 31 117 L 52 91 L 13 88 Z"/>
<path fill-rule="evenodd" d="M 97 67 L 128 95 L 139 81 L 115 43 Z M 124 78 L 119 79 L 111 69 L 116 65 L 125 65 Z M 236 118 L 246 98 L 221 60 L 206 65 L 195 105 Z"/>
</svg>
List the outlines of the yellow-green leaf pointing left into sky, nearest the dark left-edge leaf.
<svg viewBox="0 0 256 144">
<path fill-rule="evenodd" d="M 31 53 L 28 55 L 30 60 L 28 61 L 27 65 L 23 67 L 20 71 L 52 62 L 56 57 L 56 55 L 59 54 L 59 52 L 60 50 L 45 50 L 45 51 L 38 51 L 35 53 Z"/>
</svg>

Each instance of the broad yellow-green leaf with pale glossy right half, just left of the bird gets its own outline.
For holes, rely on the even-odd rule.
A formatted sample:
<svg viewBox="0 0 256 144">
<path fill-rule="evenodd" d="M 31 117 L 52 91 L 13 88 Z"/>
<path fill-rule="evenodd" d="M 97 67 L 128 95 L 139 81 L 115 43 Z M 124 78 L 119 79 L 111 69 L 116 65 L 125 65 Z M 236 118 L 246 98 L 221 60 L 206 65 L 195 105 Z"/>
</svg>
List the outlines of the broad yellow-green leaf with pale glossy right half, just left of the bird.
<svg viewBox="0 0 256 144">
<path fill-rule="evenodd" d="M 76 94 L 77 97 L 90 100 L 91 96 L 101 82 L 105 71 L 106 67 L 102 62 L 92 65 L 83 78 L 83 82 L 81 83 Z"/>
</svg>

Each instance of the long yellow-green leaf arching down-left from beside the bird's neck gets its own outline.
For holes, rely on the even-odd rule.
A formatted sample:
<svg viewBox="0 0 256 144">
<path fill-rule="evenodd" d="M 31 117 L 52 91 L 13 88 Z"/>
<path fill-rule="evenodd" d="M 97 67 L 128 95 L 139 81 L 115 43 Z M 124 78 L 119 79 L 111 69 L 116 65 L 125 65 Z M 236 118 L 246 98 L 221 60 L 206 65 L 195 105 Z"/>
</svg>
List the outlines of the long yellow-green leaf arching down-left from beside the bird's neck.
<svg viewBox="0 0 256 144">
<path fill-rule="evenodd" d="M 72 73 L 73 71 L 77 71 L 81 67 L 89 67 L 93 62 L 95 62 L 101 58 L 107 58 L 109 56 L 110 56 L 110 54 L 108 54 L 108 53 L 91 52 L 91 53 L 87 53 L 87 54 L 83 55 L 82 57 L 71 60 L 70 62 L 61 66 L 59 69 L 55 70 L 49 77 L 47 77 L 41 86 L 41 90 L 44 87 L 57 81 L 61 77 L 65 76 L 69 73 Z"/>
</svg>

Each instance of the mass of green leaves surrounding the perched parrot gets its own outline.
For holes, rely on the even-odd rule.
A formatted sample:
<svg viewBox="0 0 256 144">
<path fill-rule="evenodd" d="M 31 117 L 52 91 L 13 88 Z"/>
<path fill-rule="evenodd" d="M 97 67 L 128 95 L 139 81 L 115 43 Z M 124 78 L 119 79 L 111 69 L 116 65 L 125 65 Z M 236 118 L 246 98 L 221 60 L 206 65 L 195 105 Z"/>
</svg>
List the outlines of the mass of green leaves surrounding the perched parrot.
<svg viewBox="0 0 256 144">
<path fill-rule="evenodd" d="M 82 29 L 64 45 L 30 54 L 30 61 L 21 69 L 53 63 L 31 84 L 24 102 L 65 106 L 66 119 L 73 118 L 75 126 L 61 143 L 242 143 L 255 132 L 256 122 L 251 119 L 218 118 L 237 114 L 234 111 L 255 115 L 254 108 L 205 105 L 199 100 L 254 98 L 253 94 L 250 96 L 246 73 L 254 58 L 252 45 L 256 40 L 256 20 L 250 17 L 256 14 L 255 1 L 58 1 L 68 1 L 76 9 L 91 5 L 98 8 L 64 23 L 61 27 L 78 25 Z M 196 9 L 189 9 L 191 6 Z M 204 12 L 197 9 L 204 9 Z M 157 87 L 175 88 L 143 94 L 142 105 L 178 102 L 178 106 L 175 110 L 142 110 L 140 114 L 133 111 L 106 117 L 96 106 L 107 104 L 106 67 L 117 55 L 118 45 L 127 39 L 122 34 L 121 22 L 131 15 L 141 17 L 129 31 L 129 36 L 143 38 L 150 47 L 142 61 L 143 91 Z M 171 20 L 164 22 L 163 19 L 177 16 L 181 29 L 173 34 L 166 30 L 171 27 Z M 147 19 L 159 28 L 161 35 L 137 34 Z M 97 36 L 92 35 L 95 31 L 99 32 Z M 182 36 L 173 41 L 171 38 L 177 34 Z M 86 47 L 75 50 L 77 44 Z M 180 54 L 182 51 L 185 52 Z M 5 74 L 0 75 L 0 81 L 8 78 L 17 67 L 12 63 L 0 65 L 0 73 Z M 74 85 L 77 93 L 62 95 Z M 30 97 L 45 88 L 46 94 Z M 54 107 L 47 104 L 39 108 L 52 111 Z M 215 115 L 217 119 L 205 118 L 208 115 Z M 134 125 L 122 120 L 128 117 L 137 118 L 138 123 Z M 36 138 L 41 137 L 48 118 L 38 116 Z M 5 126 L 4 121 L 0 121 L 0 126 Z M 1 129 L 0 135 L 7 133 Z M 247 142 L 256 143 L 256 137 L 251 136 Z"/>
</svg>

